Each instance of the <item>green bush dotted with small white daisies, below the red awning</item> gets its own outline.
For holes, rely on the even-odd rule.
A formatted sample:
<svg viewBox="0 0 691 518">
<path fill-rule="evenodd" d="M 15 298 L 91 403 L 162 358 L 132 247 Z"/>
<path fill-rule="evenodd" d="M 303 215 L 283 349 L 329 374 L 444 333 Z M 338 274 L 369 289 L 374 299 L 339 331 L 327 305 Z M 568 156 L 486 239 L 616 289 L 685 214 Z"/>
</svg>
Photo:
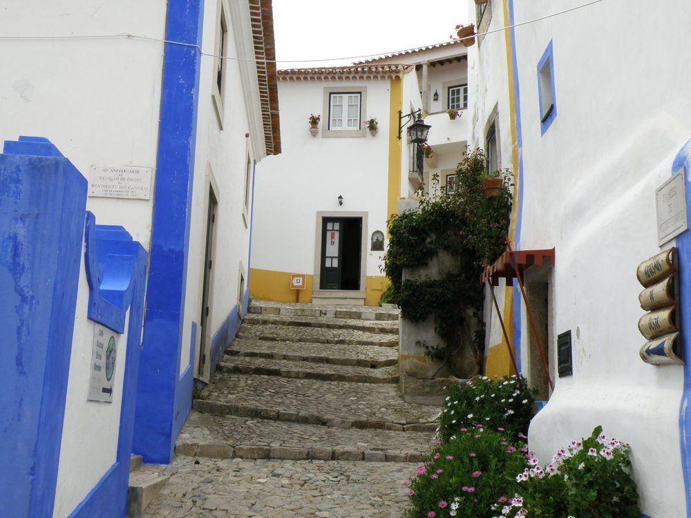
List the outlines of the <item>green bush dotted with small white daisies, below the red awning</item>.
<svg viewBox="0 0 691 518">
<path fill-rule="evenodd" d="M 480 423 L 491 429 L 502 428 L 509 437 L 524 439 L 533 403 L 533 391 L 526 379 L 518 376 L 482 376 L 475 383 L 451 385 L 439 415 L 439 435 L 442 441 L 448 441 L 459 428 Z"/>
</svg>

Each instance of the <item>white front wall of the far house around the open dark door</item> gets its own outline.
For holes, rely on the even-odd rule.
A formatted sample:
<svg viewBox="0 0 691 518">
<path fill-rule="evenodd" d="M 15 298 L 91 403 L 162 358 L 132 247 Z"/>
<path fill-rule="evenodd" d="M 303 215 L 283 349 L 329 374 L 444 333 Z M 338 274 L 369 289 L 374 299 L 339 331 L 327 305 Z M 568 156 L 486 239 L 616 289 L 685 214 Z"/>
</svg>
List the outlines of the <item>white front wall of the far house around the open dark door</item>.
<svg viewBox="0 0 691 518">
<path fill-rule="evenodd" d="M 366 86 L 363 116 L 377 117 L 376 136 L 321 136 L 328 124 L 328 114 L 322 113 L 324 88 L 339 85 Z M 375 230 L 386 233 L 389 88 L 388 79 L 278 83 L 283 153 L 267 157 L 257 174 L 253 268 L 313 274 L 317 211 L 367 211 L 368 236 Z M 311 113 L 322 116 L 316 137 L 310 134 Z M 406 169 L 401 180 L 407 178 Z M 381 275 L 380 256 L 368 254 L 368 276 Z"/>
</svg>

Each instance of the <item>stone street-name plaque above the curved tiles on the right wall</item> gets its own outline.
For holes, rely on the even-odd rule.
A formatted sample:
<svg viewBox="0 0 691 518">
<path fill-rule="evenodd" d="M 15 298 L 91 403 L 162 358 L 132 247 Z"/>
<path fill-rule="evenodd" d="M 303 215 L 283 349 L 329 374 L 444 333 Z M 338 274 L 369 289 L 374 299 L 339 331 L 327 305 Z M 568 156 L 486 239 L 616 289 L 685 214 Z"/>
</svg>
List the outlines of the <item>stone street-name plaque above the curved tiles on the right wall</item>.
<svg viewBox="0 0 691 518">
<path fill-rule="evenodd" d="M 662 246 L 670 239 L 688 230 L 686 213 L 686 189 L 684 171 L 674 173 L 655 191 L 657 207 L 657 244 Z"/>
</svg>

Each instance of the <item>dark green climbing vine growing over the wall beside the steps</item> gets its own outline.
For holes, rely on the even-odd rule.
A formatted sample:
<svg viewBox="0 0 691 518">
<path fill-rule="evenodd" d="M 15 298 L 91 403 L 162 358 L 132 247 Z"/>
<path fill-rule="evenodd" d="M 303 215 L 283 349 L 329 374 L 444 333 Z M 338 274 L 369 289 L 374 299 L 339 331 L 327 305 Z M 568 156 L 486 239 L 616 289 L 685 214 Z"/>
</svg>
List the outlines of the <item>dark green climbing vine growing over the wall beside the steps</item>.
<svg viewBox="0 0 691 518">
<path fill-rule="evenodd" d="M 384 271 L 391 280 L 387 299 L 397 303 L 401 315 L 412 322 L 433 317 L 435 332 L 444 340 L 426 345 L 426 354 L 449 358 L 462 343 L 471 344 L 478 372 L 484 344 L 480 274 L 484 264 L 504 251 L 513 188 L 513 176 L 504 171 L 499 195 L 486 198 L 482 189 L 485 163 L 481 150 L 468 151 L 455 170 L 453 194 L 432 189 L 421 196 L 417 209 L 392 215 L 384 257 Z M 439 179 L 435 177 L 434 182 L 438 186 Z M 404 269 L 425 266 L 439 253 L 452 263 L 442 278 L 403 280 Z"/>
</svg>

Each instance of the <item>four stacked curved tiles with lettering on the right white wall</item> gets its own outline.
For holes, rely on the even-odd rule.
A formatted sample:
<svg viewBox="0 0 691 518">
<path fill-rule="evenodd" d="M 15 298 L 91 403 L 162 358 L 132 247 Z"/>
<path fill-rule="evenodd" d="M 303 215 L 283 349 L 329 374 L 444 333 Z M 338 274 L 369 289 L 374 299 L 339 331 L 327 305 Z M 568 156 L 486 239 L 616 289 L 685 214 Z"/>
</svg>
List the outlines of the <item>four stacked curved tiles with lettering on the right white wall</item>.
<svg viewBox="0 0 691 518">
<path fill-rule="evenodd" d="M 641 359 L 651 365 L 683 365 L 679 353 L 679 272 L 676 248 L 641 262 L 636 277 L 643 291 L 638 303 L 647 313 L 638 320 L 638 330 L 648 340 Z"/>
</svg>

